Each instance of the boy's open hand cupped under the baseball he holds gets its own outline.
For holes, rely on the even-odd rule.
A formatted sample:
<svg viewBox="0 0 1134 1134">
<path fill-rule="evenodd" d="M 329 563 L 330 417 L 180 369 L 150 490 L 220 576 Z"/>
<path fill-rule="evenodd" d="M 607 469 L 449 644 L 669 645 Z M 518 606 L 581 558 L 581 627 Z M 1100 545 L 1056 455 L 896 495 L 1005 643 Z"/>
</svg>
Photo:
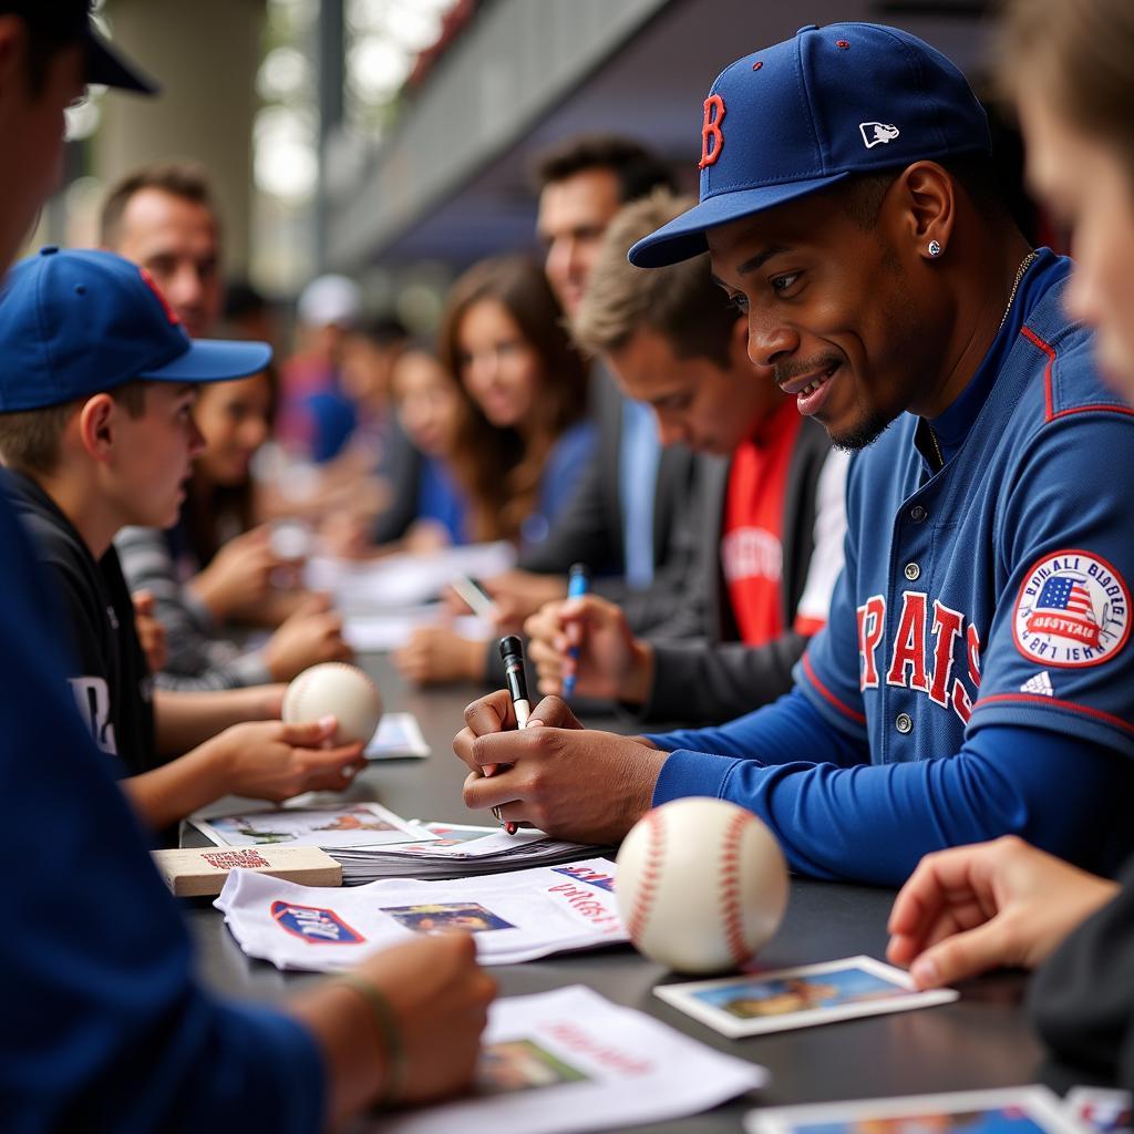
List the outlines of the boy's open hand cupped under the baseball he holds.
<svg viewBox="0 0 1134 1134">
<path fill-rule="evenodd" d="M 329 747 L 333 717 L 305 725 L 249 721 L 226 728 L 198 751 L 206 752 L 222 795 L 282 803 L 303 792 L 341 792 L 366 767 L 362 744 Z"/>
</svg>

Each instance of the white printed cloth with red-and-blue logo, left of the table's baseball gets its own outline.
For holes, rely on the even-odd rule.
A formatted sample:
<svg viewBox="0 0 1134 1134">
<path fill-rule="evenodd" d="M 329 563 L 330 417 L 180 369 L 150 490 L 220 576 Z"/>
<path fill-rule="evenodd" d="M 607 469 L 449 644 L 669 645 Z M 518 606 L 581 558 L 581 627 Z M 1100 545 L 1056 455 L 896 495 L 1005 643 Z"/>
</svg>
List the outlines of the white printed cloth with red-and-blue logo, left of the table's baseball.
<svg viewBox="0 0 1134 1134">
<path fill-rule="evenodd" d="M 579 879 L 578 865 L 591 868 L 590 882 Z M 234 870 L 214 905 L 248 956 L 315 972 L 350 968 L 375 949 L 445 929 L 471 931 L 481 960 L 498 965 L 629 940 L 603 858 L 446 882 L 383 879 L 353 889 Z"/>
</svg>

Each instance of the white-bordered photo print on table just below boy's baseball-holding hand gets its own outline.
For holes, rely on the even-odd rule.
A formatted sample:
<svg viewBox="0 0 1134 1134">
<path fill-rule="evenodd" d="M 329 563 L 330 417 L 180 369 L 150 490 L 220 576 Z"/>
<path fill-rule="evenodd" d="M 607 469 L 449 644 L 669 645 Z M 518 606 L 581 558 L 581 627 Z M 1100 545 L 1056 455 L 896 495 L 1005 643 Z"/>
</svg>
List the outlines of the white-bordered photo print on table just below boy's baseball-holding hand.
<svg viewBox="0 0 1134 1134">
<path fill-rule="evenodd" d="M 222 847 L 254 847 L 274 843 L 289 846 L 389 846 L 423 843 L 437 836 L 378 803 L 335 803 L 319 807 L 272 807 L 205 819 L 189 816 L 205 838 Z"/>
</svg>

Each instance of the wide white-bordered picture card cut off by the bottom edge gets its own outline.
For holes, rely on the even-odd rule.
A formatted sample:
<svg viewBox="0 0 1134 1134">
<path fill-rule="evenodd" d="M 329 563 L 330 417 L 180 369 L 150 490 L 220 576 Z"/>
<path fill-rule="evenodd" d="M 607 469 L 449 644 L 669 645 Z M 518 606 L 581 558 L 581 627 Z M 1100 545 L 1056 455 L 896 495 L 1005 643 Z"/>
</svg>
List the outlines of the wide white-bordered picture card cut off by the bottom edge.
<svg viewBox="0 0 1134 1134">
<path fill-rule="evenodd" d="M 886 1128 L 932 1129 L 940 1134 L 953 1131 L 1035 1134 L 1036 1129 L 1047 1134 L 1083 1134 L 1083 1127 L 1064 1112 L 1058 1095 L 1046 1086 L 773 1107 L 751 1110 L 744 1116 L 746 1134 L 809 1134 L 816 1127 L 822 1134 L 854 1134 L 873 1123 Z"/>
</svg>

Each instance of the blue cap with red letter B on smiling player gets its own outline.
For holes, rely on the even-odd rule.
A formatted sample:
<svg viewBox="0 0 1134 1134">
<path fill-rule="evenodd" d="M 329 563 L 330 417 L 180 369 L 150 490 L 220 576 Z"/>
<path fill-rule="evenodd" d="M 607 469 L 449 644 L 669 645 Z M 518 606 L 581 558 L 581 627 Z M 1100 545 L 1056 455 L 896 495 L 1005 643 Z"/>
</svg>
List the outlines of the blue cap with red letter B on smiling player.
<svg viewBox="0 0 1134 1134">
<path fill-rule="evenodd" d="M 708 249 L 705 230 L 856 174 L 991 153 L 988 116 L 940 51 L 880 24 L 814 24 L 726 67 L 704 102 L 701 200 L 638 240 L 638 268 Z"/>
</svg>

